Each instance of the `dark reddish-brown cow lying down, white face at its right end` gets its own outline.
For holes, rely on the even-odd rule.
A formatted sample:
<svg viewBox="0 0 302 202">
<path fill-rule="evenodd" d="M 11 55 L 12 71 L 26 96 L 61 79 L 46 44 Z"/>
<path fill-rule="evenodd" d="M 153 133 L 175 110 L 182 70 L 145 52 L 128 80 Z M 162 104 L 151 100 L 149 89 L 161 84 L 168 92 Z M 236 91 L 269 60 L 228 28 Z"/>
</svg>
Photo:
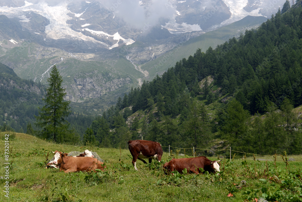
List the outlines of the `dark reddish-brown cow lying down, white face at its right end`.
<svg viewBox="0 0 302 202">
<path fill-rule="evenodd" d="M 220 160 L 221 161 L 221 160 Z M 171 161 L 165 163 L 163 168 L 165 168 L 166 173 L 171 171 L 182 171 L 187 168 L 188 173 L 199 174 L 199 168 L 203 168 L 204 171 L 209 173 L 220 172 L 219 161 L 211 161 L 205 156 L 198 156 L 195 158 L 173 158 Z"/>
</svg>

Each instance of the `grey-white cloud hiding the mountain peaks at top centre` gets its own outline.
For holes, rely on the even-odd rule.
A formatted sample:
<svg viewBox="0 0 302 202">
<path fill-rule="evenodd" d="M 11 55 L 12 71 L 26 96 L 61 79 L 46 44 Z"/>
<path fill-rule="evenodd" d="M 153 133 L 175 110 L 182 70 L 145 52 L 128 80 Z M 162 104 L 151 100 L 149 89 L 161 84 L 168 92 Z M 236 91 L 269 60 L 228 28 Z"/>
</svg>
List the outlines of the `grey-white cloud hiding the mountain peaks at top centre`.
<svg viewBox="0 0 302 202">
<path fill-rule="evenodd" d="M 175 8 L 169 0 L 99 0 L 114 15 L 135 28 L 143 29 L 155 26 L 161 18 L 171 19 L 176 14 Z"/>
</svg>

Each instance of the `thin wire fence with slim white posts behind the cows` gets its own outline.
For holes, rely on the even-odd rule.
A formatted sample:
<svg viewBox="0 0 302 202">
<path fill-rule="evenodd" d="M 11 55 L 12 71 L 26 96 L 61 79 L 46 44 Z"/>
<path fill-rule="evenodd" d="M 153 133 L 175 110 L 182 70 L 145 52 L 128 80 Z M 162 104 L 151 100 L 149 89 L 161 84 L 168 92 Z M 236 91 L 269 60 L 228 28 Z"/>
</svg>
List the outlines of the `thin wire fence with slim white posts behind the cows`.
<svg viewBox="0 0 302 202">
<path fill-rule="evenodd" d="M 247 152 L 243 152 L 243 151 L 236 151 L 236 150 L 232 150 L 231 147 L 230 149 L 202 149 L 202 148 L 196 148 L 196 147 L 193 147 L 193 148 L 179 148 L 179 147 L 173 147 L 173 146 L 162 146 L 164 148 L 169 148 L 169 156 L 170 155 L 173 155 L 176 154 L 176 155 L 181 155 L 182 153 L 180 152 L 184 152 L 184 155 L 188 155 L 188 156 L 197 156 L 197 151 L 198 150 L 204 150 L 204 151 L 225 151 L 225 153 L 228 153 L 230 152 L 230 156 L 222 156 L 221 154 L 218 154 L 218 157 L 219 158 L 230 158 L 232 159 L 232 154 L 233 154 L 233 158 L 235 158 L 235 156 L 238 158 L 239 155 L 237 155 L 237 153 L 239 154 L 243 154 L 243 156 L 240 156 L 240 158 L 244 158 L 244 155 L 255 155 L 255 156 L 259 156 L 259 157 L 271 157 L 272 159 L 274 159 L 274 155 L 263 155 L 263 154 L 253 154 L 253 153 L 247 153 Z M 173 151 L 172 149 L 175 148 L 176 151 Z M 179 149 L 179 150 L 177 150 Z M 186 151 L 187 151 L 187 154 L 186 154 Z M 190 152 L 191 151 L 191 152 Z M 173 152 L 173 153 L 172 153 Z M 170 154 L 171 153 L 171 154 Z M 283 155 L 281 154 L 276 154 L 276 157 L 278 158 L 282 158 Z M 294 156 L 294 158 L 302 158 L 302 156 Z"/>
</svg>

